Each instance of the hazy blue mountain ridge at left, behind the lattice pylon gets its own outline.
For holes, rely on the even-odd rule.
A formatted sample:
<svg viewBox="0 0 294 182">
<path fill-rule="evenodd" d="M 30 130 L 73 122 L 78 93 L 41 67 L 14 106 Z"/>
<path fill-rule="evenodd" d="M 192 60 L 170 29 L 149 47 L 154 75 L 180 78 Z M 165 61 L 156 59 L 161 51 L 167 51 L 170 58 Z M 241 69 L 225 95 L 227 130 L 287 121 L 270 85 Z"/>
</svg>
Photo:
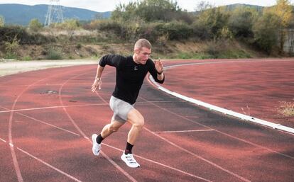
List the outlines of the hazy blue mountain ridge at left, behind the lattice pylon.
<svg viewBox="0 0 294 182">
<path fill-rule="evenodd" d="M 62 7 L 63 18 L 75 18 L 80 21 L 89 21 L 99 17 L 109 18 L 110 11 L 96 12 L 84 8 Z M 0 4 L 0 16 L 4 16 L 6 25 L 28 25 L 33 18 L 37 18 L 40 23 L 45 23 L 48 5 L 40 4 L 35 6 L 23 4 Z"/>
</svg>

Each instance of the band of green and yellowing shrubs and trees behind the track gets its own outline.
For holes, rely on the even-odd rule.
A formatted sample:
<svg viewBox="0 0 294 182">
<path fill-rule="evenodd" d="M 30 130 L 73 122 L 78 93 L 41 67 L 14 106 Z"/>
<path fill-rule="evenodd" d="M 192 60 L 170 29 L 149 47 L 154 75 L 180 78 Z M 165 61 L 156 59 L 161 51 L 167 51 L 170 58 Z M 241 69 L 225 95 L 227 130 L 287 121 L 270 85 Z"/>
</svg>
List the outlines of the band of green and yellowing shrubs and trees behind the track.
<svg viewBox="0 0 294 182">
<path fill-rule="evenodd" d="M 5 59 L 97 58 L 107 53 L 129 55 L 134 41 L 153 44 L 153 59 L 209 59 L 291 56 L 283 51 L 294 28 L 293 6 L 214 7 L 205 1 L 187 12 L 176 1 L 143 0 L 118 4 L 111 18 L 68 19 L 43 27 L 5 25 L 0 16 L 0 57 Z M 294 42 L 290 42 L 293 49 Z"/>
</svg>

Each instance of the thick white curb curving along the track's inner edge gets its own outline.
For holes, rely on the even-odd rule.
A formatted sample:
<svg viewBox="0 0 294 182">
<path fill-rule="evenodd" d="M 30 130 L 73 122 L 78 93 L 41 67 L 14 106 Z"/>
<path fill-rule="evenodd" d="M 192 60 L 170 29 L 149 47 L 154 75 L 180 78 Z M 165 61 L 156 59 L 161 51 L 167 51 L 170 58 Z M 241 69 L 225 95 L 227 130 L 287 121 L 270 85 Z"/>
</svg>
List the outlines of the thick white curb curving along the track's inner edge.
<svg viewBox="0 0 294 182">
<path fill-rule="evenodd" d="M 262 61 L 265 61 L 265 60 L 262 60 Z M 270 61 L 273 61 L 273 60 L 270 60 Z M 220 63 L 228 63 L 228 62 L 234 62 L 234 61 L 227 61 L 227 62 L 225 62 L 225 61 L 224 62 L 206 62 L 206 63 L 205 62 L 201 62 L 201 63 L 178 64 L 178 65 L 173 65 L 173 66 L 165 67 L 165 69 L 170 69 L 170 68 L 173 68 L 173 67 L 181 67 L 181 66 L 185 66 L 185 65 L 220 64 Z M 241 61 L 239 61 L 239 62 L 241 62 Z M 258 62 L 258 61 L 251 61 L 251 62 Z M 250 115 L 244 115 L 244 114 L 241 114 L 241 113 L 236 113 L 236 112 L 234 112 L 232 110 L 227 110 L 225 108 L 220 108 L 218 106 L 214 106 L 212 104 L 205 103 L 205 102 L 196 100 L 194 98 L 183 96 L 180 93 L 176 93 L 176 92 L 170 91 L 168 89 L 165 89 L 163 86 L 160 86 L 158 83 L 156 83 L 156 81 L 154 81 L 154 79 L 153 79 L 153 77 L 151 75 L 149 76 L 149 79 L 151 80 L 152 84 L 154 84 L 161 91 L 164 91 L 165 93 L 168 93 L 168 94 L 170 94 L 172 96 L 175 96 L 177 98 L 180 98 L 180 99 L 182 99 L 184 101 L 188 101 L 190 103 L 195 103 L 198 106 L 203 106 L 205 108 L 209 108 L 210 110 L 215 110 L 215 111 L 217 111 L 219 113 L 224 113 L 225 115 L 232 115 L 232 116 L 234 116 L 236 118 L 240 118 L 241 120 L 251 121 L 253 123 L 258 123 L 260 125 L 265 125 L 267 127 L 272 127 L 273 129 L 276 129 L 276 130 L 282 130 L 282 131 L 290 132 L 290 133 L 294 134 L 294 128 L 292 128 L 292 127 L 287 127 L 287 126 L 284 126 L 284 125 L 281 125 L 281 124 L 277 124 L 277 123 L 271 123 L 271 122 L 268 122 L 266 120 L 261 120 L 261 119 L 258 119 L 258 118 L 254 118 L 254 117 L 252 117 Z"/>
</svg>

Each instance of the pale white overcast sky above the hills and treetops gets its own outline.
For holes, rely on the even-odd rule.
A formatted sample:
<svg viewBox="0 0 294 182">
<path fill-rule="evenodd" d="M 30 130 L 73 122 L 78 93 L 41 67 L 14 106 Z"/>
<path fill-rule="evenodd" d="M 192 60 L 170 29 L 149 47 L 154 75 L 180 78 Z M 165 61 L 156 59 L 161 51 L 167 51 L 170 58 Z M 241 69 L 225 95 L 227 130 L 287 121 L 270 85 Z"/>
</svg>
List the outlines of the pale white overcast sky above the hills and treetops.
<svg viewBox="0 0 294 182">
<path fill-rule="evenodd" d="M 87 8 L 92 11 L 104 12 L 113 11 L 117 4 L 128 4 L 132 0 L 60 0 L 60 5 Z M 133 0 L 134 1 L 134 0 Z M 175 2 L 175 0 L 173 0 Z M 178 0 L 178 5 L 187 11 L 194 11 L 197 4 L 202 0 Z M 228 4 L 251 4 L 259 6 L 273 6 L 276 0 L 206 0 L 209 4 L 214 6 L 228 5 Z M 293 0 L 290 0 L 293 2 Z M 50 0 L 1 0 L 0 4 L 50 4 Z"/>
</svg>

